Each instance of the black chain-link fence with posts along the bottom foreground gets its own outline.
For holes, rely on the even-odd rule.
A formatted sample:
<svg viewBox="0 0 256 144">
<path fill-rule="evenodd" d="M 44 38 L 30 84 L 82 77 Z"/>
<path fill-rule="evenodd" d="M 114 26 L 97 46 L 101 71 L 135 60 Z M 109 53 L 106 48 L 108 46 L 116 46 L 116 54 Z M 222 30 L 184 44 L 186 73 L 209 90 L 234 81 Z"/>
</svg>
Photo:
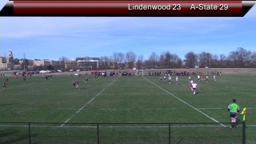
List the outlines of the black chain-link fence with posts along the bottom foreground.
<svg viewBox="0 0 256 144">
<path fill-rule="evenodd" d="M 230 123 L 0 122 L 0 143 L 170 144 L 244 143 L 245 127 Z"/>
</svg>

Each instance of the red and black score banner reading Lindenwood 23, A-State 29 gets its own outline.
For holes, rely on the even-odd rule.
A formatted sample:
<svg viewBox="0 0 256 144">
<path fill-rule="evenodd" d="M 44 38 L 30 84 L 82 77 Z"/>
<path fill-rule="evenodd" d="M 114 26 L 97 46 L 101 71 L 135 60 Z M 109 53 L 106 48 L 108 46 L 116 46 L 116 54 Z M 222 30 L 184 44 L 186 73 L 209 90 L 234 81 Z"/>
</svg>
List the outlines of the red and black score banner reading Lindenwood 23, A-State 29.
<svg viewBox="0 0 256 144">
<path fill-rule="evenodd" d="M 256 1 L 9 1 L 0 16 L 243 17 Z"/>
</svg>

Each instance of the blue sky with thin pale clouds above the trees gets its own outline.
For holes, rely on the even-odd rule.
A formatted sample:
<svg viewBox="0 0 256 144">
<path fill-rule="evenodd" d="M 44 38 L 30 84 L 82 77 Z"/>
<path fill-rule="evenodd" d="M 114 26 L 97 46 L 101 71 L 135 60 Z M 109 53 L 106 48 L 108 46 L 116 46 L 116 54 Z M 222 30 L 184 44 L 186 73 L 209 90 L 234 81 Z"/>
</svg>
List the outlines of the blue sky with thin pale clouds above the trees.
<svg viewBox="0 0 256 144">
<path fill-rule="evenodd" d="M 228 55 L 238 47 L 256 52 L 256 6 L 243 18 L 0 17 L 0 55 L 12 51 L 14 58 L 100 58 L 133 51 L 147 59 L 169 51 L 184 59 L 190 51 Z"/>
</svg>

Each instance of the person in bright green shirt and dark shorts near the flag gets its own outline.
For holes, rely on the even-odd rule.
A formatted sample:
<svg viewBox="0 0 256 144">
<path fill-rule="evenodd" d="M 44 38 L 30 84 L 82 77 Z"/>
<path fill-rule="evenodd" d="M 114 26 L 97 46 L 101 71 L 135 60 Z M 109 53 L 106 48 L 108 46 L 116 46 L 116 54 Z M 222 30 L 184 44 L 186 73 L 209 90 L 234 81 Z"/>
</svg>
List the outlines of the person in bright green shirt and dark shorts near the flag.
<svg viewBox="0 0 256 144">
<path fill-rule="evenodd" d="M 238 112 L 240 111 L 240 108 L 238 104 L 236 104 L 236 100 L 233 99 L 233 103 L 230 103 L 230 105 L 227 107 L 227 110 L 230 111 L 230 118 L 231 118 L 231 126 L 230 128 L 234 128 L 234 124 L 237 121 L 238 118 Z"/>
</svg>

